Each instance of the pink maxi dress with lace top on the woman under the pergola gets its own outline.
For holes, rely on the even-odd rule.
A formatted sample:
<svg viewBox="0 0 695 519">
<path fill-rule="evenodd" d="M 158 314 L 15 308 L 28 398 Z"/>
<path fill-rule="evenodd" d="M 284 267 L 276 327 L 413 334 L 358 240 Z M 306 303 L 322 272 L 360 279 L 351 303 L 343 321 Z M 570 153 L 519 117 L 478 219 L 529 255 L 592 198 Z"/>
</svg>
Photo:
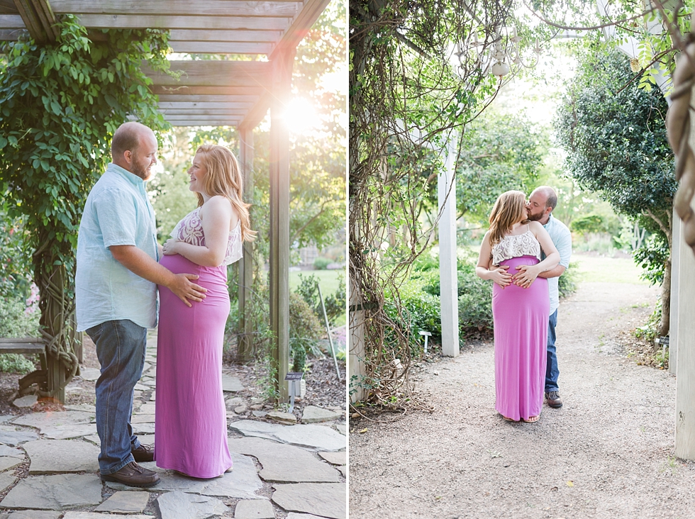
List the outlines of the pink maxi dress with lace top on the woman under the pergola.
<svg viewBox="0 0 695 519">
<path fill-rule="evenodd" d="M 172 237 L 205 245 L 200 208 L 180 221 Z M 242 256 L 241 230 L 229 234 L 220 267 L 202 267 L 181 255 L 160 263 L 180 274 L 198 274 L 208 291 L 189 308 L 160 286 L 155 398 L 155 462 L 196 478 L 220 476 L 232 467 L 227 447 L 227 415 L 222 393 L 222 346 L 229 315 L 227 265 Z"/>
</svg>

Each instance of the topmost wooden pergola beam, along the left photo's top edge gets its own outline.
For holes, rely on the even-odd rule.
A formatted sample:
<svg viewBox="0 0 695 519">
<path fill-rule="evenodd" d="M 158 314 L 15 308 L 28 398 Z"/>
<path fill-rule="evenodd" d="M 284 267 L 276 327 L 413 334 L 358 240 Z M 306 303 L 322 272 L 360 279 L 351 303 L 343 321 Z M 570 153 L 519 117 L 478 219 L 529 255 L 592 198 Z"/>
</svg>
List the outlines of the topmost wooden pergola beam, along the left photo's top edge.
<svg viewBox="0 0 695 519">
<path fill-rule="evenodd" d="M 245 0 L 50 0 L 57 14 L 124 14 L 137 16 L 282 16 L 293 18 L 301 2 Z"/>
</svg>

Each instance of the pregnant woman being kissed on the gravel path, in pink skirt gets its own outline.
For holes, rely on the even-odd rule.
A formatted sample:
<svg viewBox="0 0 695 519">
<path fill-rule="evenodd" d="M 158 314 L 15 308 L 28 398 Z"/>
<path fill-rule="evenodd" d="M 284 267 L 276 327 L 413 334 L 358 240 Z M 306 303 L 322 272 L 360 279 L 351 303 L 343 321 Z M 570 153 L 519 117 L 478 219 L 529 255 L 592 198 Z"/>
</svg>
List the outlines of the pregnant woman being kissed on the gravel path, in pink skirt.
<svg viewBox="0 0 695 519">
<path fill-rule="evenodd" d="M 538 274 L 559 261 L 560 253 L 543 225 L 528 221 L 526 196 L 521 191 L 501 194 L 490 214 L 475 273 L 494 281 L 495 409 L 505 420 L 536 422 L 540 417 L 550 295 L 547 279 Z M 508 265 L 508 272 L 518 274 L 491 269 L 494 265 Z"/>
</svg>

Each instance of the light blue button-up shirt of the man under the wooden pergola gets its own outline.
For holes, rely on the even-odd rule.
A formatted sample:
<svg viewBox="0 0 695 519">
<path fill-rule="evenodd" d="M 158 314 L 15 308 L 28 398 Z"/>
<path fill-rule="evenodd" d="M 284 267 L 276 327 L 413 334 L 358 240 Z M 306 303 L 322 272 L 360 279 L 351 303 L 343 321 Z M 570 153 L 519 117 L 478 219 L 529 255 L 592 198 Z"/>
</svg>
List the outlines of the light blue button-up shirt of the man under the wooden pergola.
<svg viewBox="0 0 695 519">
<path fill-rule="evenodd" d="M 77 235 L 77 330 L 108 320 L 157 325 L 157 285 L 123 267 L 111 245 L 135 245 L 159 261 L 157 226 L 145 182 L 110 162 L 84 205 Z"/>
</svg>

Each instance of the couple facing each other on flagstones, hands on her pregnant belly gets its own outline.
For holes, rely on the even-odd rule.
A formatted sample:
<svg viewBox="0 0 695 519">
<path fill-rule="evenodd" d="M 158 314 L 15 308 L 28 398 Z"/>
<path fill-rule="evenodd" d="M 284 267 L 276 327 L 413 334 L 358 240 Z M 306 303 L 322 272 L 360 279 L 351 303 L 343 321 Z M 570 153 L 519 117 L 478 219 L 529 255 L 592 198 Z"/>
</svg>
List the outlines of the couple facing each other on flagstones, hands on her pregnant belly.
<svg viewBox="0 0 695 519">
<path fill-rule="evenodd" d="M 77 328 L 94 340 L 101 364 L 101 480 L 155 485 L 157 473 L 138 464 L 151 461 L 197 478 L 221 476 L 232 468 L 221 379 L 226 265 L 240 259 L 243 240 L 255 234 L 238 164 L 226 147 L 199 147 L 188 171 L 198 207 L 162 247 L 145 190 L 157 162 L 155 134 L 125 123 L 113 135 L 111 156 L 84 206 L 75 279 Z M 157 318 L 152 447 L 133 434 L 130 416 L 147 329 Z"/>
</svg>

